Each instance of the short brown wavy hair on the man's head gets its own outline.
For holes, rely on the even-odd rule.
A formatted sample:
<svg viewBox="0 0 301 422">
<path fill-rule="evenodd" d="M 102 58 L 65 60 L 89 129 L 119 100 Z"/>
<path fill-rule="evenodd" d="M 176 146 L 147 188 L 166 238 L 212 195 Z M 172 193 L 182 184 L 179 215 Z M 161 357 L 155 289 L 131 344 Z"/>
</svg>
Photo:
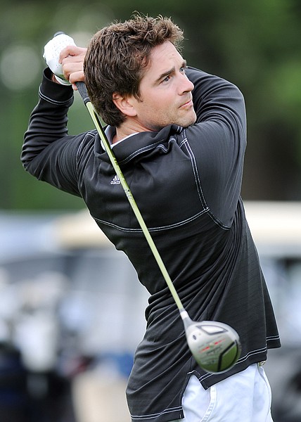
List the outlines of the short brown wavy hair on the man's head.
<svg viewBox="0 0 301 422">
<path fill-rule="evenodd" d="M 170 41 L 177 50 L 183 32 L 170 18 L 135 15 L 96 32 L 89 42 L 84 75 L 91 103 L 103 121 L 119 127 L 126 116 L 113 103 L 113 93 L 139 99 L 139 84 L 153 47 Z"/>
</svg>

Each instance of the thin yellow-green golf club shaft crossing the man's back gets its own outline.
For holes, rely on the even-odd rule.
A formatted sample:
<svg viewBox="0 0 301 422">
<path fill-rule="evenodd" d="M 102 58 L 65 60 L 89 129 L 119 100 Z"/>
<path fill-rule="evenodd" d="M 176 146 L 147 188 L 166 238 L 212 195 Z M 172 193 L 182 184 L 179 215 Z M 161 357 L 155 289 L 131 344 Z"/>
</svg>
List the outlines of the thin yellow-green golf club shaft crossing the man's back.
<svg viewBox="0 0 301 422">
<path fill-rule="evenodd" d="M 96 130 L 101 137 L 101 141 L 103 142 L 103 146 L 105 147 L 105 151 L 108 154 L 110 158 L 110 162 L 112 163 L 114 170 L 117 174 L 117 176 L 120 179 L 120 183 L 122 184 L 122 188 L 124 189 L 124 193 L 127 196 L 127 199 L 129 200 L 129 203 L 132 207 L 132 210 L 134 211 L 134 214 L 136 215 L 136 219 L 139 222 L 139 225 L 141 226 L 141 229 L 143 231 L 144 236 L 146 237 L 146 241 L 148 242 L 149 247 L 151 248 L 151 251 L 153 252 L 153 255 L 155 257 L 155 260 L 160 268 L 160 271 L 162 273 L 162 276 L 164 277 L 167 286 L 170 290 L 170 293 L 172 293 L 172 298 L 174 298 L 174 302 L 176 302 L 177 307 L 179 308 L 179 312 L 181 314 L 181 318 L 186 321 L 188 318 L 188 314 L 185 311 L 181 300 L 179 298 L 179 295 L 177 293 L 177 290 L 174 288 L 174 284 L 172 283 L 172 280 L 169 277 L 169 274 L 167 272 L 167 269 L 165 267 L 164 262 L 162 261 L 162 258 L 158 252 L 158 249 L 153 242 L 153 238 L 151 237 L 150 232 L 148 231 L 148 228 L 146 226 L 146 223 L 144 222 L 144 219 L 141 215 L 141 212 L 139 210 L 138 205 L 136 204 L 136 201 L 134 200 L 134 197 L 132 195 L 132 192 L 129 188 L 129 185 L 127 184 L 127 181 L 124 178 L 124 175 L 122 173 L 122 170 L 120 169 L 120 166 L 115 158 L 115 155 L 112 151 L 112 148 L 110 146 L 110 143 L 108 141 L 107 136 L 105 135 L 105 132 L 103 130 L 103 126 L 101 124 L 101 120 L 99 119 L 98 115 L 96 114 L 94 107 L 92 106 L 91 101 L 89 100 L 89 96 L 87 94 L 87 89 L 85 87 L 84 82 L 77 82 L 77 89 L 79 91 L 80 96 L 82 97 L 82 100 L 84 101 L 85 106 L 87 107 L 89 114 L 91 115 L 91 119 L 94 122 L 94 125 L 96 127 Z"/>
</svg>

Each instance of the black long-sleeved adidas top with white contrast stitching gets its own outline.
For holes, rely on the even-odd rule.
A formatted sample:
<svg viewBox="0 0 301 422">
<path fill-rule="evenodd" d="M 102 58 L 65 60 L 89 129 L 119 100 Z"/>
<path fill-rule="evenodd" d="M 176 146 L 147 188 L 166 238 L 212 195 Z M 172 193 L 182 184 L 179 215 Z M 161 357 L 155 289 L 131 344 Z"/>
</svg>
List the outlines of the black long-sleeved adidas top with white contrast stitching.
<svg viewBox="0 0 301 422">
<path fill-rule="evenodd" d="M 181 396 L 191 373 L 208 388 L 267 359 L 267 348 L 280 346 L 240 197 L 246 145 L 243 96 L 224 79 L 189 68 L 196 124 L 142 132 L 113 147 L 191 319 L 224 322 L 241 337 L 238 363 L 212 375 L 191 356 L 178 309 L 98 134 L 68 136 L 73 91 L 53 84 L 48 72 L 25 133 L 23 165 L 37 179 L 84 199 L 151 294 L 146 334 L 127 387 L 132 421 L 183 418 Z"/>
</svg>

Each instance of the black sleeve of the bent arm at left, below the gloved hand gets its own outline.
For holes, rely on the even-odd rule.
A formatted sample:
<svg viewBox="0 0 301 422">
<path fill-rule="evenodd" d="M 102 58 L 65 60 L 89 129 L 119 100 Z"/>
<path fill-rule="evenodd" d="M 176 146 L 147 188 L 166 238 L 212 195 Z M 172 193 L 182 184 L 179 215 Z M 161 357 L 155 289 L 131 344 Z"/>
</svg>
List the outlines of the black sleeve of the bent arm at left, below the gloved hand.
<svg viewBox="0 0 301 422">
<path fill-rule="evenodd" d="M 21 161 L 25 170 L 37 179 L 80 196 L 77 155 L 86 134 L 68 135 L 73 90 L 52 82 L 50 75 L 46 69 L 39 87 L 39 102 L 25 132 Z"/>
</svg>

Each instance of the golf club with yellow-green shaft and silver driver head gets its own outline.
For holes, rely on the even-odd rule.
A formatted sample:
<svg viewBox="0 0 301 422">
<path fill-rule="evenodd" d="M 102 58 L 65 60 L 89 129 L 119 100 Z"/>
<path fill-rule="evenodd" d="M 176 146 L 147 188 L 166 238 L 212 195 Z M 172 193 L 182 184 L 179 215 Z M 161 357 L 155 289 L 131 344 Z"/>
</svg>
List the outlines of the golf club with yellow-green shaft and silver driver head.
<svg viewBox="0 0 301 422">
<path fill-rule="evenodd" d="M 63 33 L 59 32 L 56 34 L 63 34 Z M 56 50 L 56 53 L 54 53 L 53 56 L 59 56 L 60 51 L 64 48 L 62 46 L 63 40 L 60 39 L 58 43 L 58 47 L 56 47 L 55 39 L 56 39 L 56 36 L 53 37 L 54 50 Z M 70 41 L 70 37 L 66 39 L 67 43 L 69 41 Z M 70 44 L 65 44 L 65 46 L 68 46 L 68 45 Z M 58 51 L 58 49 L 60 49 L 60 51 Z M 58 55 L 57 55 L 57 52 L 58 52 Z M 63 71 L 59 69 L 58 75 L 60 75 L 61 77 L 62 74 L 63 74 Z M 94 125 L 101 138 L 105 151 L 110 158 L 110 162 L 113 165 L 113 168 L 120 179 L 120 183 L 122 184 L 124 193 L 127 196 L 127 199 L 129 200 L 129 203 L 136 216 L 136 219 L 139 222 L 139 225 L 141 226 L 143 235 L 145 236 L 146 241 L 148 242 L 148 245 L 151 248 L 151 251 L 153 252 L 155 260 L 162 273 L 162 276 L 164 277 L 167 283 L 167 286 L 170 290 L 170 293 L 172 294 L 172 298 L 174 299 L 174 302 L 176 303 L 179 309 L 179 313 L 181 315 L 181 319 L 184 324 L 188 347 L 191 350 L 193 357 L 196 359 L 196 362 L 198 363 L 198 365 L 203 370 L 209 373 L 222 373 L 222 372 L 229 371 L 229 369 L 231 369 L 236 364 L 241 354 L 241 343 L 239 340 L 238 333 L 236 333 L 236 331 L 233 330 L 233 328 L 231 328 L 230 326 L 223 324 L 221 322 L 217 322 L 217 321 L 198 322 L 198 321 L 192 321 L 191 318 L 189 317 L 188 312 L 186 312 L 186 309 L 184 309 L 184 306 L 179 298 L 177 290 L 174 288 L 174 284 L 172 283 L 172 280 L 169 277 L 165 264 L 163 263 L 162 258 L 160 257 L 160 254 L 158 252 L 158 249 L 156 248 L 155 243 L 153 242 L 153 238 L 151 237 L 151 234 L 148 231 L 148 228 L 146 226 L 146 223 L 144 222 L 144 219 L 141 215 L 139 207 L 136 205 L 136 201 L 134 200 L 132 192 L 130 191 L 129 186 L 127 184 L 127 181 L 124 178 L 122 170 L 120 169 L 120 166 L 118 165 L 118 162 L 112 151 L 108 138 L 105 135 L 105 131 L 101 124 L 101 120 L 98 117 L 98 114 L 94 110 L 94 107 L 89 99 L 86 86 L 84 82 L 77 82 L 76 85 L 77 85 L 79 94 L 82 97 L 82 101 L 84 102 L 84 105 L 87 107 L 87 110 L 89 111 L 91 119 L 94 122 Z"/>
</svg>

